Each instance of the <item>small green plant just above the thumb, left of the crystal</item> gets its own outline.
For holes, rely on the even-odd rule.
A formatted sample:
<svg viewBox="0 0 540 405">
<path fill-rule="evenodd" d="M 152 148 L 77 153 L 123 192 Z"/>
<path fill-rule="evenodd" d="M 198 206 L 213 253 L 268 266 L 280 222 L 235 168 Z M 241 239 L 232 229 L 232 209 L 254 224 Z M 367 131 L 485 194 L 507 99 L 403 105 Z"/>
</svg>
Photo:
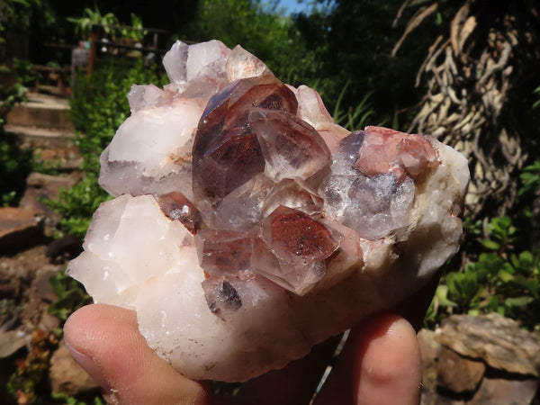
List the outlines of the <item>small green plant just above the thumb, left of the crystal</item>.
<svg viewBox="0 0 540 405">
<path fill-rule="evenodd" d="M 52 291 L 57 295 L 58 300 L 49 305 L 49 314 L 65 322 L 69 315 L 78 310 L 90 301 L 90 297 L 85 293 L 83 286 L 75 279 L 66 275 L 64 271 L 49 277 L 49 284 Z"/>
</svg>

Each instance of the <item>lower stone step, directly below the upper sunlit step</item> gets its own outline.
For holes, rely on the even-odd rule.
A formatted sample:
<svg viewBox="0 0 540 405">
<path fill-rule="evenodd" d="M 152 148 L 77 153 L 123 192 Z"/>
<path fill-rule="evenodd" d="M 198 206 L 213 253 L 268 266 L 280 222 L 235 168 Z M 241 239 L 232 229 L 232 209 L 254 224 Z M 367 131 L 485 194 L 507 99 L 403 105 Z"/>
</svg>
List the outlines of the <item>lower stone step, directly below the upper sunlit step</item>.
<svg viewBox="0 0 540 405">
<path fill-rule="evenodd" d="M 18 139 L 19 148 L 31 150 L 35 157 L 58 168 L 74 170 L 82 163 L 72 131 L 21 125 L 5 125 L 4 130 Z"/>
</svg>

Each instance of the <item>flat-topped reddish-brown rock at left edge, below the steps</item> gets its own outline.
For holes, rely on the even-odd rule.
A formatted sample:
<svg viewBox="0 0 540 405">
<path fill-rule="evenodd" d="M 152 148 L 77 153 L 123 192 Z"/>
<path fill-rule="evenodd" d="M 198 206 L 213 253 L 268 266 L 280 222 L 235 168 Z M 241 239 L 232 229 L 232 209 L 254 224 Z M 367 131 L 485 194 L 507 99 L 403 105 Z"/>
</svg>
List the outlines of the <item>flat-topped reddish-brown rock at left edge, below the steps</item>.
<svg viewBox="0 0 540 405">
<path fill-rule="evenodd" d="M 0 207 L 0 250 L 37 241 L 42 220 L 42 211 Z"/>
</svg>

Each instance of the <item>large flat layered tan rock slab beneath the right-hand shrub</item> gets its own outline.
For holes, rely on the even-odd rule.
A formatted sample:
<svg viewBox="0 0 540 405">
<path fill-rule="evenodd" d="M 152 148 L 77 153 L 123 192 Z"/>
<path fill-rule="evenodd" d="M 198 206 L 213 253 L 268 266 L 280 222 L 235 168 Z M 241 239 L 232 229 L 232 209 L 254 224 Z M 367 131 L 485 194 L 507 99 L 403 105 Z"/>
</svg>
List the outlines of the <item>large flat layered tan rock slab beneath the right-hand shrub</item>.
<svg viewBox="0 0 540 405">
<path fill-rule="evenodd" d="M 443 322 L 441 344 L 509 373 L 540 376 L 540 339 L 518 322 L 490 313 L 454 315 Z"/>
</svg>

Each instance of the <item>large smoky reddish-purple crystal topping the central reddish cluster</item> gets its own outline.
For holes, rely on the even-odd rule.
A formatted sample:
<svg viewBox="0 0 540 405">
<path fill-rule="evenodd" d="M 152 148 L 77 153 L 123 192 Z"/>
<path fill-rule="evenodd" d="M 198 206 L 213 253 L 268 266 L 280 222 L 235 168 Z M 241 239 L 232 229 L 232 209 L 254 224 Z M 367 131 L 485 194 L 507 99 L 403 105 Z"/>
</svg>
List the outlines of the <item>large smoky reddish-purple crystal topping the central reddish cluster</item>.
<svg viewBox="0 0 540 405">
<path fill-rule="evenodd" d="M 195 198 L 210 201 L 223 198 L 254 175 L 272 171 L 276 165 L 280 166 L 274 171 L 286 170 L 284 166 L 292 164 L 289 161 L 294 158 L 289 155 L 287 159 L 290 146 L 284 144 L 281 155 L 276 156 L 272 154 L 275 145 L 268 144 L 275 137 L 266 136 L 268 126 L 278 133 L 275 125 L 279 119 L 265 124 L 276 115 L 293 117 L 291 112 L 295 113 L 297 108 L 294 94 L 274 76 L 239 79 L 211 97 L 193 144 Z M 268 114 L 271 118 L 267 118 Z M 312 128 L 311 131 L 313 136 L 318 136 Z M 290 139 L 291 132 L 284 130 L 281 138 Z M 269 148 L 273 149 L 269 151 Z"/>
</svg>

